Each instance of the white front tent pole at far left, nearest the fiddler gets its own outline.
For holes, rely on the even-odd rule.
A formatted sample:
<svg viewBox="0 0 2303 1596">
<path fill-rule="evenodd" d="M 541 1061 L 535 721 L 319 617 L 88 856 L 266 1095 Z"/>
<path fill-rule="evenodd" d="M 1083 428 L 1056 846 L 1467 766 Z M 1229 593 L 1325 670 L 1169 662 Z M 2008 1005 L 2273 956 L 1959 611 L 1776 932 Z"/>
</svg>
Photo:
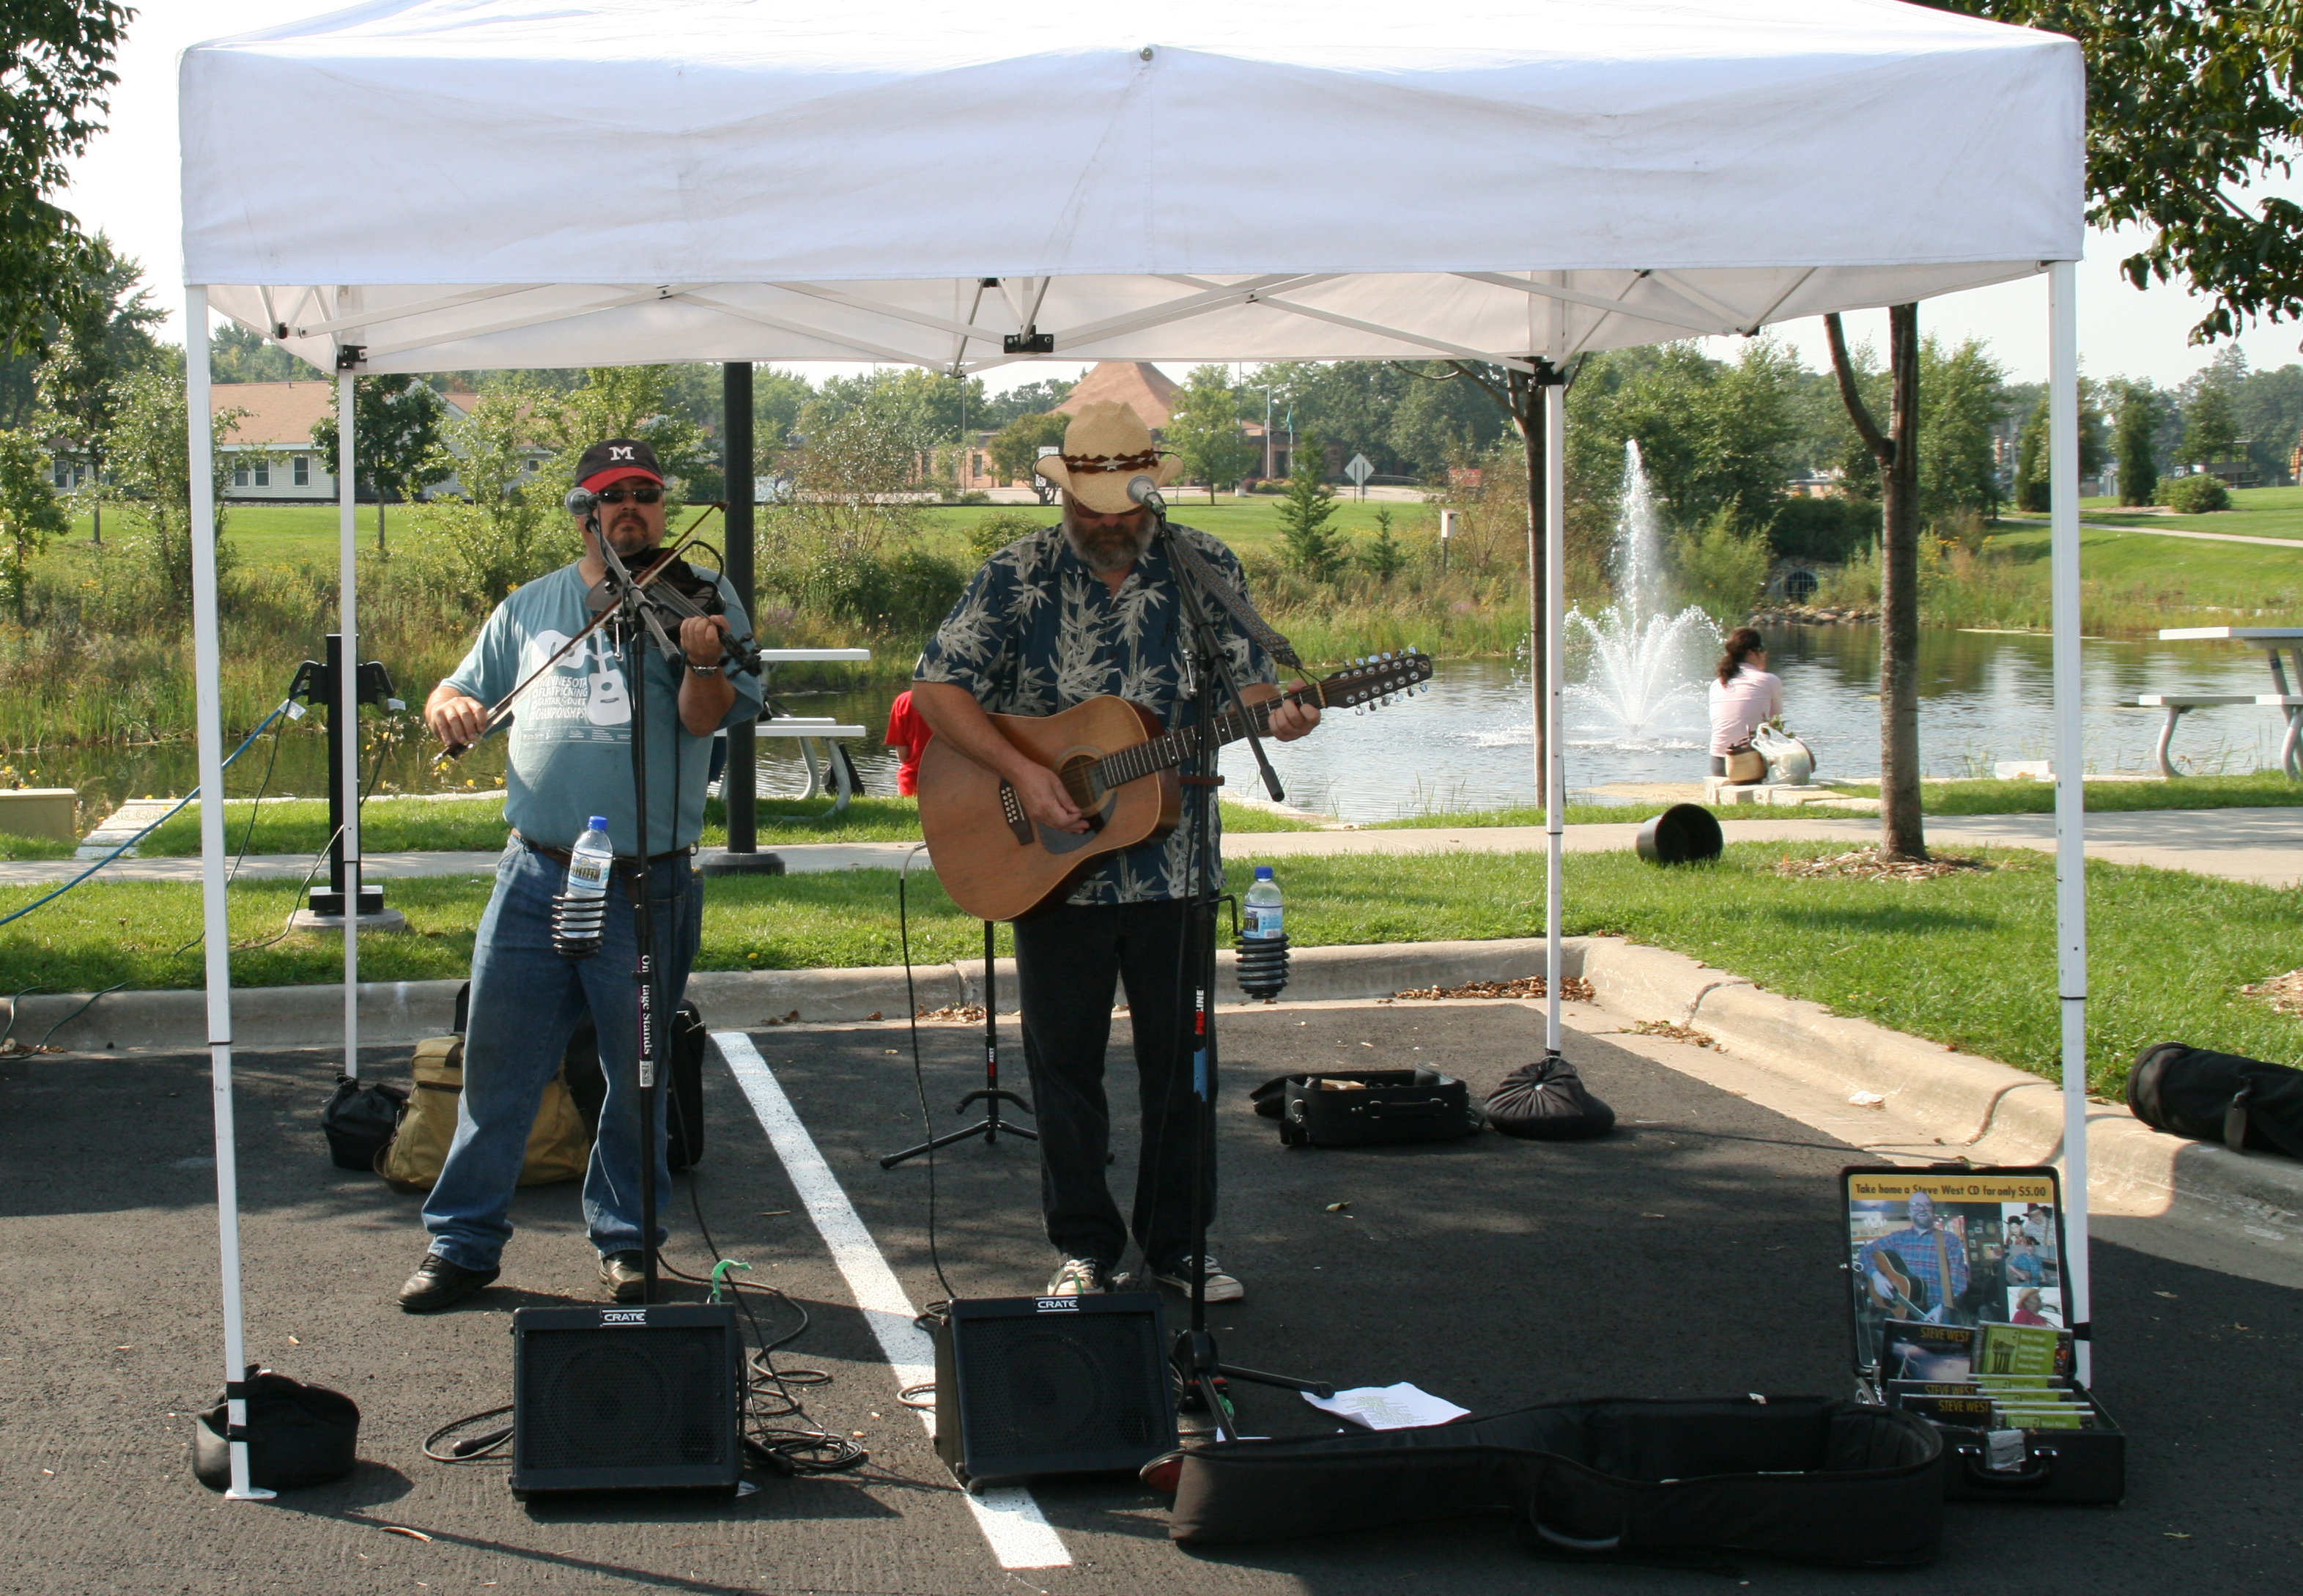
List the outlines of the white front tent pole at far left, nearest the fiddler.
<svg viewBox="0 0 2303 1596">
<path fill-rule="evenodd" d="M 223 1391 L 233 1502 L 249 1483 L 246 1336 L 240 1322 L 240 1168 L 233 1133 L 233 930 L 223 912 L 223 647 L 216 631 L 214 417 L 207 408 L 207 288 L 184 290 L 184 431 L 191 449 L 191 670 L 200 732 L 200 935 L 207 963 L 207 1062 L 216 1117 L 216 1274 L 223 1285 Z M 237 1437 L 237 1439 L 235 1439 Z"/>
</svg>

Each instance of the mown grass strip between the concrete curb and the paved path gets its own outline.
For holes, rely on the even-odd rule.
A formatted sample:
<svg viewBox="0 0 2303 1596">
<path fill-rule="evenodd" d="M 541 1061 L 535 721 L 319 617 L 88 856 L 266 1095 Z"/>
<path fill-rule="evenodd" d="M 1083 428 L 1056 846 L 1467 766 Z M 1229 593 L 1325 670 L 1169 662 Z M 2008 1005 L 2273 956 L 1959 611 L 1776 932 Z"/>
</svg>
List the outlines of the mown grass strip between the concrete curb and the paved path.
<svg viewBox="0 0 2303 1596">
<path fill-rule="evenodd" d="M 1794 880 L 1778 859 L 1829 845 L 1732 843 L 1716 866 L 1658 871 L 1631 852 L 1568 854 L 1566 930 L 1626 935 L 1677 949 L 1771 990 L 1838 1013 L 1930 1036 L 2043 1076 L 2057 1062 L 2054 861 L 1985 850 L 1992 871 L 1928 882 Z M 2089 864 L 2089 1078 L 2116 1094 L 2153 1041 L 2291 1062 L 2303 1025 L 2236 988 L 2296 967 L 2303 891 L 2220 877 Z M 1246 887 L 1246 866 L 1230 873 Z M 0 891 L 0 912 L 37 889 Z M 484 880 L 398 880 L 387 903 L 415 935 L 368 937 L 375 981 L 465 974 Z M 90 884 L 0 928 L 14 986 L 97 990 L 191 988 L 198 889 L 182 882 Z M 235 942 L 279 935 L 292 882 L 233 889 Z M 1541 854 L 1303 857 L 1287 864 L 1297 947 L 1529 937 L 1543 928 Z M 912 960 L 967 958 L 981 947 L 933 877 L 912 880 Z M 1004 933 L 1002 933 L 1004 935 Z M 707 889 L 702 970 L 889 965 L 900 958 L 894 871 L 728 877 Z M 286 937 L 233 953 L 244 986 L 327 983 L 341 944 Z"/>
</svg>

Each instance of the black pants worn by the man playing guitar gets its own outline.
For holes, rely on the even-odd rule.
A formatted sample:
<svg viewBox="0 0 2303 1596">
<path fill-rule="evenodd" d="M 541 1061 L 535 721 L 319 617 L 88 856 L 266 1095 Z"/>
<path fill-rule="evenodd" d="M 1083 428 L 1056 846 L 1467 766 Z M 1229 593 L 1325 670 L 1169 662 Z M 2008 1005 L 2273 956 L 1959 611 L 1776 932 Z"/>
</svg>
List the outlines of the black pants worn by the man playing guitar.
<svg viewBox="0 0 2303 1596">
<path fill-rule="evenodd" d="M 1117 1267 L 1135 1234 L 1145 1257 L 1170 1264 L 1191 1251 L 1193 1112 L 1191 1057 L 1177 1055 L 1184 905 L 1062 903 L 1016 921 L 1016 976 L 1023 988 L 1023 1057 L 1032 1071 L 1039 1128 L 1041 1209 L 1064 1257 Z M 1103 1050 L 1112 1039 L 1112 990 L 1128 995 L 1135 1032 L 1135 1092 L 1142 1149 L 1135 1209 L 1119 1207 L 1103 1181 L 1112 1110 L 1103 1094 Z M 1207 1211 L 1216 1211 L 1209 1158 Z"/>
</svg>

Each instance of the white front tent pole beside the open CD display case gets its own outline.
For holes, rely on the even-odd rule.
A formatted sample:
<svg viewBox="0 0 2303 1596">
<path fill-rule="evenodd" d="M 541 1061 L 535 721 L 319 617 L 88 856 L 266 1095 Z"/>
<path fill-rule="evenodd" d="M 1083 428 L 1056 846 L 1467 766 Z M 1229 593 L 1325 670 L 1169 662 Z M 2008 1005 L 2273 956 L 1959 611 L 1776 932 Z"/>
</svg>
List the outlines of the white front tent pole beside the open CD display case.
<svg viewBox="0 0 2303 1596">
<path fill-rule="evenodd" d="M 2047 491 L 2054 596 L 2054 986 L 2063 1020 L 2063 1322 L 2089 1324 L 2087 1269 L 2087 788 L 2080 732 L 2077 267 L 2047 267 Z M 2080 1331 L 2077 1375 L 2093 1382 Z"/>
</svg>

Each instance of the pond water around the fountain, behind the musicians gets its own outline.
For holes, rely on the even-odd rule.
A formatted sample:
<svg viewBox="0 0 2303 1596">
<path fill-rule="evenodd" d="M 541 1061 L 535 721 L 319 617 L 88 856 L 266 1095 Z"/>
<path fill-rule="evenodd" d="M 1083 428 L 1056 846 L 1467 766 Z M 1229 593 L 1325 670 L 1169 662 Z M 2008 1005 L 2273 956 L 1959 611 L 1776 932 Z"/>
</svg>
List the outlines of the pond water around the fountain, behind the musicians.
<svg viewBox="0 0 2303 1596">
<path fill-rule="evenodd" d="M 1785 719 L 1817 755 L 1819 781 L 1870 781 L 1879 774 L 1879 633 L 1872 626 L 1771 626 L 1769 668 L 1783 677 Z M 845 693 L 778 693 L 792 714 L 836 716 L 871 730 L 854 758 L 868 792 L 896 790 L 896 755 L 880 744 L 896 686 Z M 2268 693 L 2264 656 L 2225 643 L 2091 640 L 2084 645 L 2087 767 L 2149 772 L 2158 709 L 2114 709 L 2135 693 Z M 1568 790 L 1624 781 L 1700 781 L 1707 769 L 1702 698 L 1677 719 L 1621 737 L 1568 714 Z M 226 774 L 226 792 L 265 790 L 322 797 L 327 739 L 306 721 L 258 742 Z M 405 719 L 417 732 L 415 716 Z M 2195 709 L 2176 735 L 2176 753 L 2199 772 L 2245 772 L 2278 760 L 2280 719 L 2252 705 Z M 373 735 L 373 732 L 371 732 Z M 2029 633 L 1921 633 L 1921 753 L 1930 776 L 1990 774 L 1994 760 L 2043 760 L 2050 753 L 2047 638 Z M 1267 744 L 1287 801 L 1345 820 L 1391 820 L 1435 808 L 1497 808 L 1531 795 L 1527 672 L 1502 659 L 1449 659 L 1430 693 L 1370 714 L 1333 714 L 1317 735 Z M 438 792 L 493 788 L 502 778 L 502 744 L 468 753 L 433 772 L 421 742 L 387 742 L 375 769 L 380 790 Z M 18 760 L 30 785 L 76 785 L 83 813 L 108 813 L 124 797 L 184 792 L 196 781 L 189 742 L 48 751 Z M 373 769 L 373 765 L 371 765 Z M 1232 792 L 1255 792 L 1246 746 L 1223 760 Z M 37 772 L 37 774 L 32 774 Z M 788 744 L 762 744 L 762 792 L 797 795 L 806 769 Z"/>
</svg>

